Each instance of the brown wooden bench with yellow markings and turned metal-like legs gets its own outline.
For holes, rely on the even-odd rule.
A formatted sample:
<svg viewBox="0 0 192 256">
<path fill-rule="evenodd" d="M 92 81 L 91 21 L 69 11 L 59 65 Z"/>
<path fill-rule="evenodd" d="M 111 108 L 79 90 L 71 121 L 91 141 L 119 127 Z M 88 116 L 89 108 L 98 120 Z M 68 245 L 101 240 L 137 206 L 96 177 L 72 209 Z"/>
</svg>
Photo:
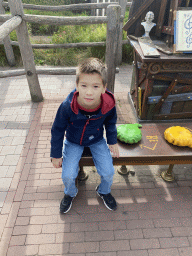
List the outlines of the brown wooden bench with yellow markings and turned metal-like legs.
<svg viewBox="0 0 192 256">
<path fill-rule="evenodd" d="M 130 145 L 118 141 L 120 157 L 113 158 L 113 164 L 121 166 L 167 164 L 169 168 L 161 173 L 161 177 L 166 181 L 173 181 L 172 170 L 174 164 L 192 164 L 192 149 L 174 146 L 164 139 L 164 131 L 170 126 L 187 127 L 192 131 L 192 122 L 142 124 L 142 139 L 139 143 Z M 80 176 L 86 178 L 83 167 L 94 166 L 88 148 L 84 150 L 79 166 Z M 126 174 L 126 171 L 124 174 Z"/>
</svg>

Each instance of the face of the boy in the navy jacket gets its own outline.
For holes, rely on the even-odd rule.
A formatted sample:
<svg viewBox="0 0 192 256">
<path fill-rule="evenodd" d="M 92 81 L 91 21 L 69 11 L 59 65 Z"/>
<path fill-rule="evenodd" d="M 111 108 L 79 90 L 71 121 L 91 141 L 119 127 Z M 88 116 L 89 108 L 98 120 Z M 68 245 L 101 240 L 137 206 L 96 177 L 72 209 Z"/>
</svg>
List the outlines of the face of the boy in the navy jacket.
<svg viewBox="0 0 192 256">
<path fill-rule="evenodd" d="M 105 93 L 106 86 L 97 73 L 81 74 L 76 89 L 79 92 L 79 105 L 86 109 L 94 109 L 100 105 L 101 94 Z"/>
</svg>

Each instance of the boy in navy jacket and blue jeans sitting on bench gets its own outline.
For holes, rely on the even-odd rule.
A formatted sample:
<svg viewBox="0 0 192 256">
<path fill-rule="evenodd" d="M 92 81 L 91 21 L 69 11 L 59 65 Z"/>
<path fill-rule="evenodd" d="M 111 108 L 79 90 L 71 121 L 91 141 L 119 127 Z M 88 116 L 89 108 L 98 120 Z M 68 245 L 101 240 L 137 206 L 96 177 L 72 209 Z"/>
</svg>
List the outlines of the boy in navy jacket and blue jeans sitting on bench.
<svg viewBox="0 0 192 256">
<path fill-rule="evenodd" d="M 106 90 L 106 75 L 106 67 L 99 59 L 89 58 L 80 63 L 76 72 L 76 89 L 60 105 L 52 126 L 51 160 L 54 167 L 62 166 L 65 185 L 64 198 L 60 204 L 61 213 L 70 210 L 77 195 L 75 179 L 85 146 L 90 148 L 95 167 L 101 176 L 101 183 L 96 188 L 97 194 L 108 209 L 117 208 L 110 193 L 114 175 L 110 151 L 114 157 L 119 157 L 117 115 L 114 96 Z M 103 138 L 104 126 L 109 147 Z"/>
</svg>

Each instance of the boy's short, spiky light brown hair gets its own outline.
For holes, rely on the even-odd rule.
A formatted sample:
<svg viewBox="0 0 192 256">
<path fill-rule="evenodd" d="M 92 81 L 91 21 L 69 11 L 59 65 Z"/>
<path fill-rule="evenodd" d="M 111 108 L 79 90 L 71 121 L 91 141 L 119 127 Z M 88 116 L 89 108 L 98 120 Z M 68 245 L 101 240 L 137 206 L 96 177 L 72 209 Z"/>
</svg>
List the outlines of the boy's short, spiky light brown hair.
<svg viewBox="0 0 192 256">
<path fill-rule="evenodd" d="M 103 86 L 105 86 L 107 83 L 107 67 L 97 58 L 88 58 L 80 62 L 76 70 L 76 83 L 78 84 L 81 74 L 93 73 L 97 73 L 101 76 Z"/>
</svg>

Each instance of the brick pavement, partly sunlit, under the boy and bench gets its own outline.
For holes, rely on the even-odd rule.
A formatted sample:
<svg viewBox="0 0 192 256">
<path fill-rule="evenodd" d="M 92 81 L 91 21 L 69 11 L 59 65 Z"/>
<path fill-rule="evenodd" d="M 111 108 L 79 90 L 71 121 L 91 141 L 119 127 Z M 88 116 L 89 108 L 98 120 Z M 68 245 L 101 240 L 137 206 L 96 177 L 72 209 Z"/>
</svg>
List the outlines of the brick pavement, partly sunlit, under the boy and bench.
<svg viewBox="0 0 192 256">
<path fill-rule="evenodd" d="M 116 75 L 119 123 L 135 122 L 127 103 L 131 70 L 122 66 Z M 39 80 L 39 104 L 31 103 L 25 76 L 0 81 L 0 256 L 192 255 L 191 165 L 176 165 L 173 183 L 159 176 L 167 166 L 128 166 L 135 176 L 116 172 L 116 212 L 96 196 L 99 176 L 87 167 L 71 211 L 59 214 L 63 184 L 49 160 L 50 128 L 75 76 Z"/>
</svg>

